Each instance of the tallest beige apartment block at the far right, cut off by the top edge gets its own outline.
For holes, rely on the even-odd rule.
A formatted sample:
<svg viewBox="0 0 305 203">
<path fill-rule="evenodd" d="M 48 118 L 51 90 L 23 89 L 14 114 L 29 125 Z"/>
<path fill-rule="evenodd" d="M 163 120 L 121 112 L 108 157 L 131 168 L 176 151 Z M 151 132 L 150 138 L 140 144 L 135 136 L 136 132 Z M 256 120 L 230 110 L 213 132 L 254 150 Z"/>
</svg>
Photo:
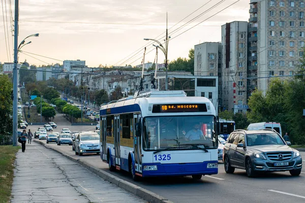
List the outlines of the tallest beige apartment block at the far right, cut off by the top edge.
<svg viewBox="0 0 305 203">
<path fill-rule="evenodd" d="M 304 54 L 304 13 L 303 0 L 251 0 L 250 27 L 257 27 L 257 87 L 264 93 L 270 77 L 287 79 L 285 76 L 294 74 Z M 255 29 L 252 31 L 255 34 Z M 255 85 L 252 82 L 249 83 Z"/>
</svg>

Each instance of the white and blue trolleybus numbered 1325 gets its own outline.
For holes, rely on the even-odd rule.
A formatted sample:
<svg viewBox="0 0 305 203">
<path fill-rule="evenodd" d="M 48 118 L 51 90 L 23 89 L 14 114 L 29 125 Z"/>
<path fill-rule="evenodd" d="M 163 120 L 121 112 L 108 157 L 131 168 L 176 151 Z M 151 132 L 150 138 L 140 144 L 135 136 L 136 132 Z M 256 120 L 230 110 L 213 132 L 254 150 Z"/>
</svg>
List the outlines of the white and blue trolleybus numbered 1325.
<svg viewBox="0 0 305 203">
<path fill-rule="evenodd" d="M 141 177 L 218 173 L 216 112 L 205 97 L 150 91 L 101 106 L 101 159 Z"/>
</svg>

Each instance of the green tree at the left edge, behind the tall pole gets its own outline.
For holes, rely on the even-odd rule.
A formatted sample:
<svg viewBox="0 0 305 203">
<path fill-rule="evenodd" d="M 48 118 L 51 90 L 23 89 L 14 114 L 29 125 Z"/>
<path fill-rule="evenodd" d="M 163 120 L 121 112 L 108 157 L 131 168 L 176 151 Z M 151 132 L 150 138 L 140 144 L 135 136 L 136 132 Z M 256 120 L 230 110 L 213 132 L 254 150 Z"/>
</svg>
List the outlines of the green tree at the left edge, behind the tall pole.
<svg viewBox="0 0 305 203">
<path fill-rule="evenodd" d="M 12 132 L 13 120 L 11 118 L 13 101 L 11 98 L 13 83 L 7 75 L 0 75 L 0 134 Z"/>
</svg>

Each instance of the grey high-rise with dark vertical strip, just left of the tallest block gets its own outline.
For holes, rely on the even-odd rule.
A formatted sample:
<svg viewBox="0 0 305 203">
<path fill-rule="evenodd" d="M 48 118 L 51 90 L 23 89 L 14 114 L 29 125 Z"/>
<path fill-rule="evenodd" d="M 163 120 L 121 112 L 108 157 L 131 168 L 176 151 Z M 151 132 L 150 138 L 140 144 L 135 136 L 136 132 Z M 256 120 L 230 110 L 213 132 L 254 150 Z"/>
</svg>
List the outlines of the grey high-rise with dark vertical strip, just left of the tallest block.
<svg viewBox="0 0 305 203">
<path fill-rule="evenodd" d="M 247 103 L 248 22 L 222 25 L 221 109 L 233 110 Z M 252 46 L 252 45 L 251 45 Z M 249 58 L 249 57 L 248 57 Z"/>
</svg>

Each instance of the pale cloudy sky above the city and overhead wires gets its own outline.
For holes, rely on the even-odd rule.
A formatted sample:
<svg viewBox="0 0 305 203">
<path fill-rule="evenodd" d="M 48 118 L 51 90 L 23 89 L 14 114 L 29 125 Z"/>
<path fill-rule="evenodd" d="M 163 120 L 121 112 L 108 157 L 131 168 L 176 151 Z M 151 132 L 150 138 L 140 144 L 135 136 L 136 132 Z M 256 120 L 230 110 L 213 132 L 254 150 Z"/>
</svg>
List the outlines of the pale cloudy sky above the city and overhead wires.
<svg viewBox="0 0 305 203">
<path fill-rule="evenodd" d="M 26 39 L 26 42 L 31 41 L 32 43 L 22 48 L 24 52 L 19 53 L 18 61 L 26 60 L 29 64 L 39 66 L 57 62 L 62 64 L 63 60 L 80 59 L 85 60 L 89 67 L 97 67 L 99 64 L 107 66 L 131 64 L 134 66 L 141 64 L 146 46 L 145 62 L 154 62 L 156 50 L 150 45 L 152 42 L 149 43 L 143 39 L 157 39 L 163 42 L 166 30 L 166 13 L 168 15 L 168 32 L 171 37 L 168 46 L 168 59 L 172 61 L 178 57 L 188 58 L 189 50 L 194 48 L 194 45 L 203 42 L 220 42 L 221 25 L 232 21 L 248 21 L 250 0 L 240 0 L 223 10 L 236 1 L 19 1 L 18 42 L 20 43 L 25 37 L 34 33 L 39 33 L 39 37 Z M 9 2 L 10 0 L 2 0 L 3 7 L 0 12 L 0 61 L 2 63 L 13 62 Z M 14 16 L 14 1 L 11 2 L 12 15 Z M 215 6 L 218 3 L 220 4 Z M 212 8 L 213 6 L 215 7 Z M 199 10 L 190 15 L 197 9 Z M 201 13 L 203 14 L 194 22 L 181 27 Z M 214 14 L 216 15 L 212 16 Z M 184 19 L 188 15 L 190 16 Z M 175 25 L 176 23 L 178 24 Z M 193 27 L 198 23 L 200 24 Z M 186 31 L 187 29 L 190 30 Z M 184 31 L 186 32 L 179 35 Z M 10 47 L 8 54 L 6 47 Z M 164 62 L 164 59 L 164 54 L 159 51 L 158 63 Z"/>
</svg>

